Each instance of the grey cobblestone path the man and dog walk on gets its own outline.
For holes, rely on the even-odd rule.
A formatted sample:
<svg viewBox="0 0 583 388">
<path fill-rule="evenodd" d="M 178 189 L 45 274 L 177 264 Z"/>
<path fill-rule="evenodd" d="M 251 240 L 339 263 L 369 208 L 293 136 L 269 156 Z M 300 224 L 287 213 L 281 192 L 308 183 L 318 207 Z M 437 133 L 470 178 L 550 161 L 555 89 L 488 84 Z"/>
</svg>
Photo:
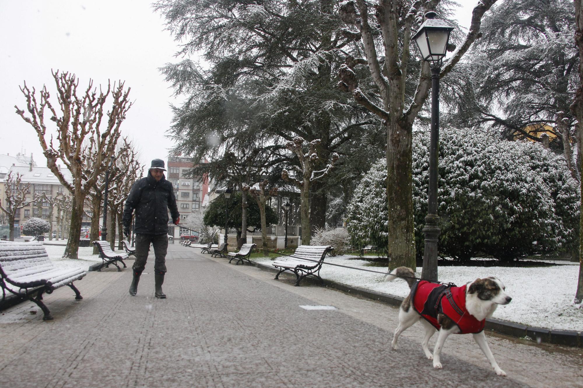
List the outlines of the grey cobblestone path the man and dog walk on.
<svg viewBox="0 0 583 388">
<path fill-rule="evenodd" d="M 293 287 L 290 277 L 276 281 L 269 271 L 198 252 L 169 246 L 165 300 L 154 298 L 152 257 L 135 297 L 131 270 L 106 270 L 76 283 L 82 301 L 68 287 L 46 295 L 52 322 L 30 302 L 3 311 L 0 385 L 583 386 L 581 349 L 487 334 L 508 374 L 501 378 L 471 336 L 450 336 L 438 371 L 423 355 L 420 324 L 390 350 L 396 308 L 316 285 Z"/>
</svg>

